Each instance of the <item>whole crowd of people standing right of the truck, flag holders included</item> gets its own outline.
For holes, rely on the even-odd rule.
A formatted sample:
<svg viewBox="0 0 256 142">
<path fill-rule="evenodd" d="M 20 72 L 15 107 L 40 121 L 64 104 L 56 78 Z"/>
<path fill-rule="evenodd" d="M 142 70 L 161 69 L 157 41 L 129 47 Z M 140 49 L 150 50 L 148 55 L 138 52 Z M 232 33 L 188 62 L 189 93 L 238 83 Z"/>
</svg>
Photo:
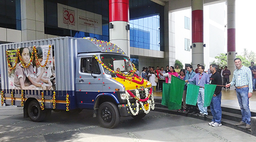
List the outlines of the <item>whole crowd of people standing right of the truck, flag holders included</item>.
<svg viewBox="0 0 256 142">
<path fill-rule="evenodd" d="M 143 67 L 141 77 L 152 82 L 154 90 L 162 90 L 163 82 L 171 83 L 172 75 L 182 79 L 186 82 L 183 90 L 182 97 L 182 111 L 185 113 L 196 114 L 198 116 L 208 116 L 207 107 L 204 107 L 204 85 L 205 84 L 215 84 L 217 85 L 214 94 L 212 94 L 212 99 L 210 102 L 210 110 L 212 113 L 212 120 L 208 125 L 213 127 L 222 126 L 221 117 L 221 96 L 222 89 L 230 89 L 230 86 L 236 86 L 237 98 L 239 106 L 242 113 L 242 121 L 236 124 L 237 126 L 246 125 L 246 129 L 250 129 L 250 109 L 249 109 L 249 98 L 252 96 L 252 90 L 255 91 L 256 84 L 256 66 L 251 62 L 250 67 L 242 65 L 241 59 L 234 59 L 234 64 L 236 65 L 236 70 L 234 70 L 232 80 L 229 81 L 229 76 L 231 75 L 230 70 L 227 66 L 220 67 L 216 64 L 211 64 L 207 72 L 205 72 L 205 67 L 198 64 L 197 68 L 194 70 L 192 65 L 188 65 L 185 69 L 179 68 L 176 65 L 166 66 L 164 70 L 163 67 L 159 68 L 157 66 L 156 70 L 154 67 L 149 66 Z M 253 83 L 252 83 L 253 82 Z M 200 86 L 199 94 L 197 99 L 197 106 L 186 105 L 186 92 L 187 83 Z M 197 110 L 197 107 L 199 110 Z"/>
</svg>

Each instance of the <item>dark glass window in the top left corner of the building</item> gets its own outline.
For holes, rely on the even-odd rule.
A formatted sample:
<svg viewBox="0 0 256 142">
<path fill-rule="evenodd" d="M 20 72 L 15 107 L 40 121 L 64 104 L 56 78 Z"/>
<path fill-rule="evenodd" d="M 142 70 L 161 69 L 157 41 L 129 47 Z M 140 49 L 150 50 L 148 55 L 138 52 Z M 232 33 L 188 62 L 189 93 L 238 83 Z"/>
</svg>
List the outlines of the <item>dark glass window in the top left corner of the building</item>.
<svg viewBox="0 0 256 142">
<path fill-rule="evenodd" d="M 20 0 L 0 1 L 0 27 L 14 30 L 22 30 L 20 16 Z"/>
</svg>

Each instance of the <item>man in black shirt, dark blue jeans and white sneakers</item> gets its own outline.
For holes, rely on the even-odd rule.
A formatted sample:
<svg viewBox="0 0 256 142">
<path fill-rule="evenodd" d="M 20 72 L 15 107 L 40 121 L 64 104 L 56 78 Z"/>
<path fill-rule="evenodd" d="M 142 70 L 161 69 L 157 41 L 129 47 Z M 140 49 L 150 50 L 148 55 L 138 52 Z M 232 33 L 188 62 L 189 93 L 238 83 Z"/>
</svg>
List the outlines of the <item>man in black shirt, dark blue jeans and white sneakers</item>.
<svg viewBox="0 0 256 142">
<path fill-rule="evenodd" d="M 209 84 L 216 84 L 221 85 L 222 84 L 222 78 L 221 75 L 217 72 L 218 66 L 216 64 L 210 65 L 210 82 Z M 210 102 L 210 111 L 212 114 L 212 120 L 210 123 L 208 123 L 210 126 L 218 127 L 222 126 L 221 124 L 221 116 L 222 116 L 222 110 L 221 110 L 221 86 L 217 86 L 215 89 L 215 92 L 213 94 L 213 97 Z"/>
</svg>

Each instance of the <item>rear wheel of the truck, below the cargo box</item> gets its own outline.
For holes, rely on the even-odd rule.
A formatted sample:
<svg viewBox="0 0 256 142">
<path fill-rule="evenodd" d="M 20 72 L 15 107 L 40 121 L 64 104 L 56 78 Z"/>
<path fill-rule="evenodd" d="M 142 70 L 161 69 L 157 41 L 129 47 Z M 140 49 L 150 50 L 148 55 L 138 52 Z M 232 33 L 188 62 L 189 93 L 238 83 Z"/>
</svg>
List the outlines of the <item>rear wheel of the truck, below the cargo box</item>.
<svg viewBox="0 0 256 142">
<path fill-rule="evenodd" d="M 29 103 L 28 115 L 33 122 L 41 122 L 46 118 L 46 111 L 41 110 L 39 103 L 33 100 Z"/>
</svg>

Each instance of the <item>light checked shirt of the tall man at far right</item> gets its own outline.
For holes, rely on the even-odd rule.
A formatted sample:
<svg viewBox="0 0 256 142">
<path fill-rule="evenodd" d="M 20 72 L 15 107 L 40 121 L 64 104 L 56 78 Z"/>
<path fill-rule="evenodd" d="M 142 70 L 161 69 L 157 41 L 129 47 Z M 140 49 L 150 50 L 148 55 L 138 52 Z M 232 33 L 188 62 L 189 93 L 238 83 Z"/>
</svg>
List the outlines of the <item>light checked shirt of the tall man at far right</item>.
<svg viewBox="0 0 256 142">
<path fill-rule="evenodd" d="M 249 92 L 252 92 L 252 77 L 251 70 L 246 66 L 242 66 L 240 69 L 234 70 L 232 81 L 230 86 L 236 85 L 236 87 L 242 87 L 249 85 Z"/>
</svg>

